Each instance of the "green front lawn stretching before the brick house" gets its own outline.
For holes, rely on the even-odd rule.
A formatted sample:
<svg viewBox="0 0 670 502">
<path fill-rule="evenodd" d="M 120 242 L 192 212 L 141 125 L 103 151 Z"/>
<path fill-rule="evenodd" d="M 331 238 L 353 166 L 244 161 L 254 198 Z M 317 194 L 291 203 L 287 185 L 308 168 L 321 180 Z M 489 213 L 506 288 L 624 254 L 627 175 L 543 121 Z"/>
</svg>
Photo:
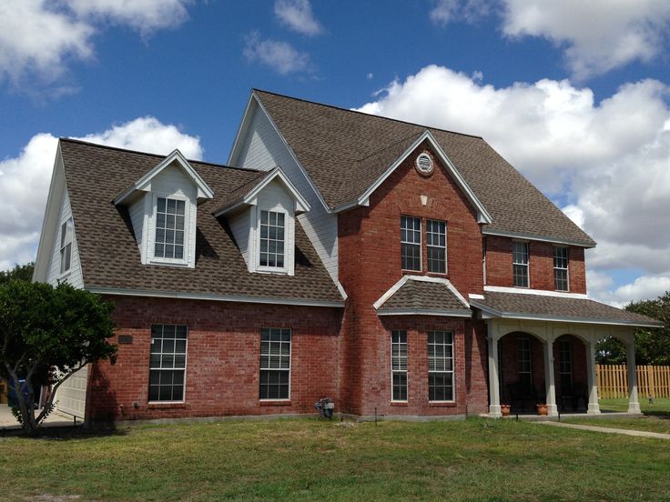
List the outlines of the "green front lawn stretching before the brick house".
<svg viewBox="0 0 670 502">
<path fill-rule="evenodd" d="M 670 500 L 670 443 L 513 420 L 302 419 L 0 438 L 0 497 Z"/>
</svg>

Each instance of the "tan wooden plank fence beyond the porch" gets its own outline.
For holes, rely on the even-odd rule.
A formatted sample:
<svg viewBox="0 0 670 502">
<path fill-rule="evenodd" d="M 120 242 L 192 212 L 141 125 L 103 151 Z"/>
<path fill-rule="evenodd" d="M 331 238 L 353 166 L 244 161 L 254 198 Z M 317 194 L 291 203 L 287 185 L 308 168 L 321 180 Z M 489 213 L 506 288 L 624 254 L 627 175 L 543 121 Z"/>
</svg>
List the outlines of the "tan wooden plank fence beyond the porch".
<svg viewBox="0 0 670 502">
<path fill-rule="evenodd" d="M 625 365 L 595 365 L 598 397 L 628 397 Z M 670 366 L 637 366 L 637 395 L 670 397 Z"/>
</svg>

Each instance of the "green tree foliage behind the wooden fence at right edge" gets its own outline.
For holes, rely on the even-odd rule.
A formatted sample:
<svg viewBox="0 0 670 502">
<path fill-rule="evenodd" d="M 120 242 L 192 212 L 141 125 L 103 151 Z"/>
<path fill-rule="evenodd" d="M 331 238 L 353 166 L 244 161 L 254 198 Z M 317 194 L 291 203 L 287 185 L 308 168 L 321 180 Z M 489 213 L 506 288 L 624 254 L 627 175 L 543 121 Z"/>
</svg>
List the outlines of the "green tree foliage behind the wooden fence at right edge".
<svg viewBox="0 0 670 502">
<path fill-rule="evenodd" d="M 664 327 L 639 329 L 635 333 L 635 359 L 638 365 L 670 365 L 670 292 L 655 300 L 633 302 L 629 312 L 653 317 Z"/>
</svg>

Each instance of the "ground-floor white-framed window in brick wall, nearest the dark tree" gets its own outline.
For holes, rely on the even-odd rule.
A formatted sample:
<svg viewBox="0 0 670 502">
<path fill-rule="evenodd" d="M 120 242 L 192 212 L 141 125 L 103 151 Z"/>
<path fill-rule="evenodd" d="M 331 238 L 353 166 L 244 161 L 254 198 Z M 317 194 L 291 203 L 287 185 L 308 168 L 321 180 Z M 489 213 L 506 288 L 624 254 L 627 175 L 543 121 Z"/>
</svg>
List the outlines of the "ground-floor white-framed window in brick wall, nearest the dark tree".
<svg viewBox="0 0 670 502">
<path fill-rule="evenodd" d="M 183 401 L 188 326 L 151 326 L 149 401 Z"/>
</svg>

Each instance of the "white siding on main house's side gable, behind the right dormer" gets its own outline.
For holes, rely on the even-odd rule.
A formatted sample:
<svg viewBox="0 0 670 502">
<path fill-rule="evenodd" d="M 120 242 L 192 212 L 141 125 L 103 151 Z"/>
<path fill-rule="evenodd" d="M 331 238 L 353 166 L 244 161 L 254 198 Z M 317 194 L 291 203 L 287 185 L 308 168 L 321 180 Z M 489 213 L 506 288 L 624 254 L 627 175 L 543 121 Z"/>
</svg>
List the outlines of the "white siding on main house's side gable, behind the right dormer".
<svg viewBox="0 0 670 502">
<path fill-rule="evenodd" d="M 245 138 L 240 138 L 239 153 L 234 162 L 237 166 L 269 171 L 275 166 L 282 171 L 295 186 L 299 193 L 310 203 L 308 213 L 298 216 L 299 222 L 305 229 L 307 236 L 321 261 L 330 273 L 338 278 L 338 217 L 329 214 L 322 205 L 319 196 L 311 188 L 307 177 L 290 155 L 281 136 L 269 121 L 265 112 L 258 105 L 253 104 L 255 111 L 249 121 L 249 132 Z M 251 112 L 249 112 L 251 113 Z"/>
</svg>

